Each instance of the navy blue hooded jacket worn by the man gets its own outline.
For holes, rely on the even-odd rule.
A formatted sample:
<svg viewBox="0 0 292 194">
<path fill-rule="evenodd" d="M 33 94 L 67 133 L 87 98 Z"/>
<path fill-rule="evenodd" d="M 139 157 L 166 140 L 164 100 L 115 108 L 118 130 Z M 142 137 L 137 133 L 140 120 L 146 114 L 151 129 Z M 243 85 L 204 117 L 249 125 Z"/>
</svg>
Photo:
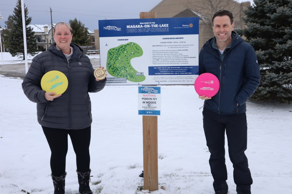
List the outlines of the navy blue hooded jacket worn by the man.
<svg viewBox="0 0 292 194">
<path fill-rule="evenodd" d="M 260 83 L 255 50 L 232 31 L 231 48 L 221 62 L 218 50 L 212 47 L 214 39 L 215 37 L 208 40 L 200 51 L 199 75 L 202 73 L 216 75 L 220 81 L 220 89 L 212 99 L 205 100 L 204 108 L 224 115 L 244 113 L 245 102 Z"/>
</svg>

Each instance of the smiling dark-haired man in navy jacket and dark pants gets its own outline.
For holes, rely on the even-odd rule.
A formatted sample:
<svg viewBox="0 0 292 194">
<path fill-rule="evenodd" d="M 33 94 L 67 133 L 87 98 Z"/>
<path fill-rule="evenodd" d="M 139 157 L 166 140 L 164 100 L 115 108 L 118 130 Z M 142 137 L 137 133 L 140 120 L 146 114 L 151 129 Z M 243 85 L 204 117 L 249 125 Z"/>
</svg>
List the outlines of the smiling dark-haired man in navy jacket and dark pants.
<svg viewBox="0 0 292 194">
<path fill-rule="evenodd" d="M 220 89 L 205 100 L 203 128 L 210 151 L 209 164 L 216 194 L 227 194 L 225 165 L 225 130 L 228 152 L 233 164 L 233 178 L 238 194 L 251 193 L 252 177 L 244 151 L 247 149 L 245 102 L 260 83 L 259 65 L 253 47 L 244 42 L 234 29 L 233 15 L 227 10 L 212 18 L 214 38 L 200 51 L 199 74 L 212 73 L 220 81 Z"/>
</svg>

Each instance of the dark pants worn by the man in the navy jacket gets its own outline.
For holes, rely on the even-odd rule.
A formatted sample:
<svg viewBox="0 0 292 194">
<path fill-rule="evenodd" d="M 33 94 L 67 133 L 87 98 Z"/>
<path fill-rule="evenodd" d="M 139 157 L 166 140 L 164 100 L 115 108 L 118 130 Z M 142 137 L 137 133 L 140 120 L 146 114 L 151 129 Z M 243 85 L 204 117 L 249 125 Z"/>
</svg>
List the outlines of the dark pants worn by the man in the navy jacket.
<svg viewBox="0 0 292 194">
<path fill-rule="evenodd" d="M 228 152 L 233 164 L 233 178 L 238 194 L 251 193 L 252 177 L 247 149 L 247 122 L 245 113 L 220 115 L 211 110 L 203 110 L 203 127 L 207 146 L 210 151 L 209 164 L 214 179 L 215 192 L 228 192 L 227 169 L 225 165 L 225 131 L 228 140 Z"/>
</svg>

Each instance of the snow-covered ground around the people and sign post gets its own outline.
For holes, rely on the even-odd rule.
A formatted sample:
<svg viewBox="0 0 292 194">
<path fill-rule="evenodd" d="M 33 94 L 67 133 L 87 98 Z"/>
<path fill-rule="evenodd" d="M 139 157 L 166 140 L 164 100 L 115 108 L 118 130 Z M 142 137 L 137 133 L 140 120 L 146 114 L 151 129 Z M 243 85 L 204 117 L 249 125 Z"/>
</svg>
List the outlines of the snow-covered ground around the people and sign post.
<svg viewBox="0 0 292 194">
<path fill-rule="evenodd" d="M 3 54 L 5 59 L 0 65 L 19 60 Z M 36 120 L 36 104 L 23 94 L 21 83 L 21 79 L 0 77 L 0 193 L 53 194 L 50 149 Z M 91 188 L 94 193 L 214 193 L 202 109 L 199 109 L 203 101 L 198 99 L 191 85 L 161 86 L 161 92 L 159 189 L 154 192 L 140 191 L 143 136 L 142 116 L 137 109 L 138 86 L 106 86 L 101 92 L 90 94 Z M 252 193 L 292 193 L 291 118 L 292 105 L 247 102 L 248 149 L 245 153 L 254 181 Z M 226 164 L 228 194 L 236 194 L 228 154 Z M 66 193 L 78 193 L 70 138 L 66 171 Z"/>
</svg>

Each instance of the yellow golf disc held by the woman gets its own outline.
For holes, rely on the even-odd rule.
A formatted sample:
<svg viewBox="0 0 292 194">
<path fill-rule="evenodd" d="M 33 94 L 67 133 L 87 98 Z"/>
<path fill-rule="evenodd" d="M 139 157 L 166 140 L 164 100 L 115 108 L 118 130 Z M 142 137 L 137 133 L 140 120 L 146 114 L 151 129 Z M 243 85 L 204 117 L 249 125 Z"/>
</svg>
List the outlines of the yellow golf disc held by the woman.
<svg viewBox="0 0 292 194">
<path fill-rule="evenodd" d="M 49 71 L 43 75 L 40 85 L 46 92 L 56 92 L 56 95 L 63 94 L 68 87 L 68 79 L 62 72 Z"/>
</svg>

